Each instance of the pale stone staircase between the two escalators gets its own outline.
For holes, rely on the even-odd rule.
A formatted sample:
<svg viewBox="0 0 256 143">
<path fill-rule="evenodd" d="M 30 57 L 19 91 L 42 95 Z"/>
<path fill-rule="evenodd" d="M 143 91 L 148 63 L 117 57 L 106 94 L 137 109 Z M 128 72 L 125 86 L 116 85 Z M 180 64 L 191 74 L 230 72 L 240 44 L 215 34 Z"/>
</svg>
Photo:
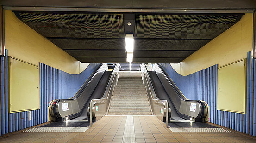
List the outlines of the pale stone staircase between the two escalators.
<svg viewBox="0 0 256 143">
<path fill-rule="evenodd" d="M 143 85 L 141 72 L 119 72 L 108 114 L 150 115 L 150 103 Z"/>
</svg>

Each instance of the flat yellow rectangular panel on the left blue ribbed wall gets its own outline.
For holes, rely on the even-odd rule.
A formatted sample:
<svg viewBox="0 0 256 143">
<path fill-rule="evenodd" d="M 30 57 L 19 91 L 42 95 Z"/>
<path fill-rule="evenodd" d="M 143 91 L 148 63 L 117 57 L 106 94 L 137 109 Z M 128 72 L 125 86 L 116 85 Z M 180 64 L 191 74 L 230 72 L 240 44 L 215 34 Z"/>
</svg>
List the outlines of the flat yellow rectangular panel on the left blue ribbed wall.
<svg viewBox="0 0 256 143">
<path fill-rule="evenodd" d="M 8 58 L 9 113 L 40 108 L 39 66 Z"/>
</svg>

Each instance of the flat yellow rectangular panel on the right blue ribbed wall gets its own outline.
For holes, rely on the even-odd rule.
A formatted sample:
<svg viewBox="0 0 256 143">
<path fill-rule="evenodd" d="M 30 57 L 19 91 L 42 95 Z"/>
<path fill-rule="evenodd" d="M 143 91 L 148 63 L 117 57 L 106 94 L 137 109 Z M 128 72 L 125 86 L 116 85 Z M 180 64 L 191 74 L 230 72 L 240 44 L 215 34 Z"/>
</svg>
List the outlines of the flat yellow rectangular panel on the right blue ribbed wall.
<svg viewBox="0 0 256 143">
<path fill-rule="evenodd" d="M 218 68 L 217 109 L 245 114 L 246 59 Z"/>
</svg>

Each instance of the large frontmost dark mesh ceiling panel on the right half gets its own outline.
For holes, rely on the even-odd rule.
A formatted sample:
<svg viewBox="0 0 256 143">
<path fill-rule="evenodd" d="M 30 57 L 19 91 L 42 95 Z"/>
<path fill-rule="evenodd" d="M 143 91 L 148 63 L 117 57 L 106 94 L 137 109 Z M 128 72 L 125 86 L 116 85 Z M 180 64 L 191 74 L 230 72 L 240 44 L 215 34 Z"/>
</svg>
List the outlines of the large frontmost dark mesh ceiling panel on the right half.
<svg viewBox="0 0 256 143">
<path fill-rule="evenodd" d="M 212 39 L 240 18 L 235 14 L 137 14 L 134 37 Z"/>
</svg>

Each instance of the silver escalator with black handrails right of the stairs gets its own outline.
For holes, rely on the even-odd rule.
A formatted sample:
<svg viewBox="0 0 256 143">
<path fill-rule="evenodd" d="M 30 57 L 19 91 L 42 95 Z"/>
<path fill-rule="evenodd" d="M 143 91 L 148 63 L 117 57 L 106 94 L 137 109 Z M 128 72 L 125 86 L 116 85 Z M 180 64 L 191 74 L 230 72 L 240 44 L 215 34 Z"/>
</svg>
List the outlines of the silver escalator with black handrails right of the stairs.
<svg viewBox="0 0 256 143">
<path fill-rule="evenodd" d="M 205 121 L 208 114 L 208 106 L 204 101 L 187 100 L 177 86 L 163 71 L 160 64 L 154 64 L 148 71 L 145 64 L 142 71 L 146 80 L 153 86 L 156 99 L 167 100 L 171 111 L 172 121 Z"/>
</svg>

